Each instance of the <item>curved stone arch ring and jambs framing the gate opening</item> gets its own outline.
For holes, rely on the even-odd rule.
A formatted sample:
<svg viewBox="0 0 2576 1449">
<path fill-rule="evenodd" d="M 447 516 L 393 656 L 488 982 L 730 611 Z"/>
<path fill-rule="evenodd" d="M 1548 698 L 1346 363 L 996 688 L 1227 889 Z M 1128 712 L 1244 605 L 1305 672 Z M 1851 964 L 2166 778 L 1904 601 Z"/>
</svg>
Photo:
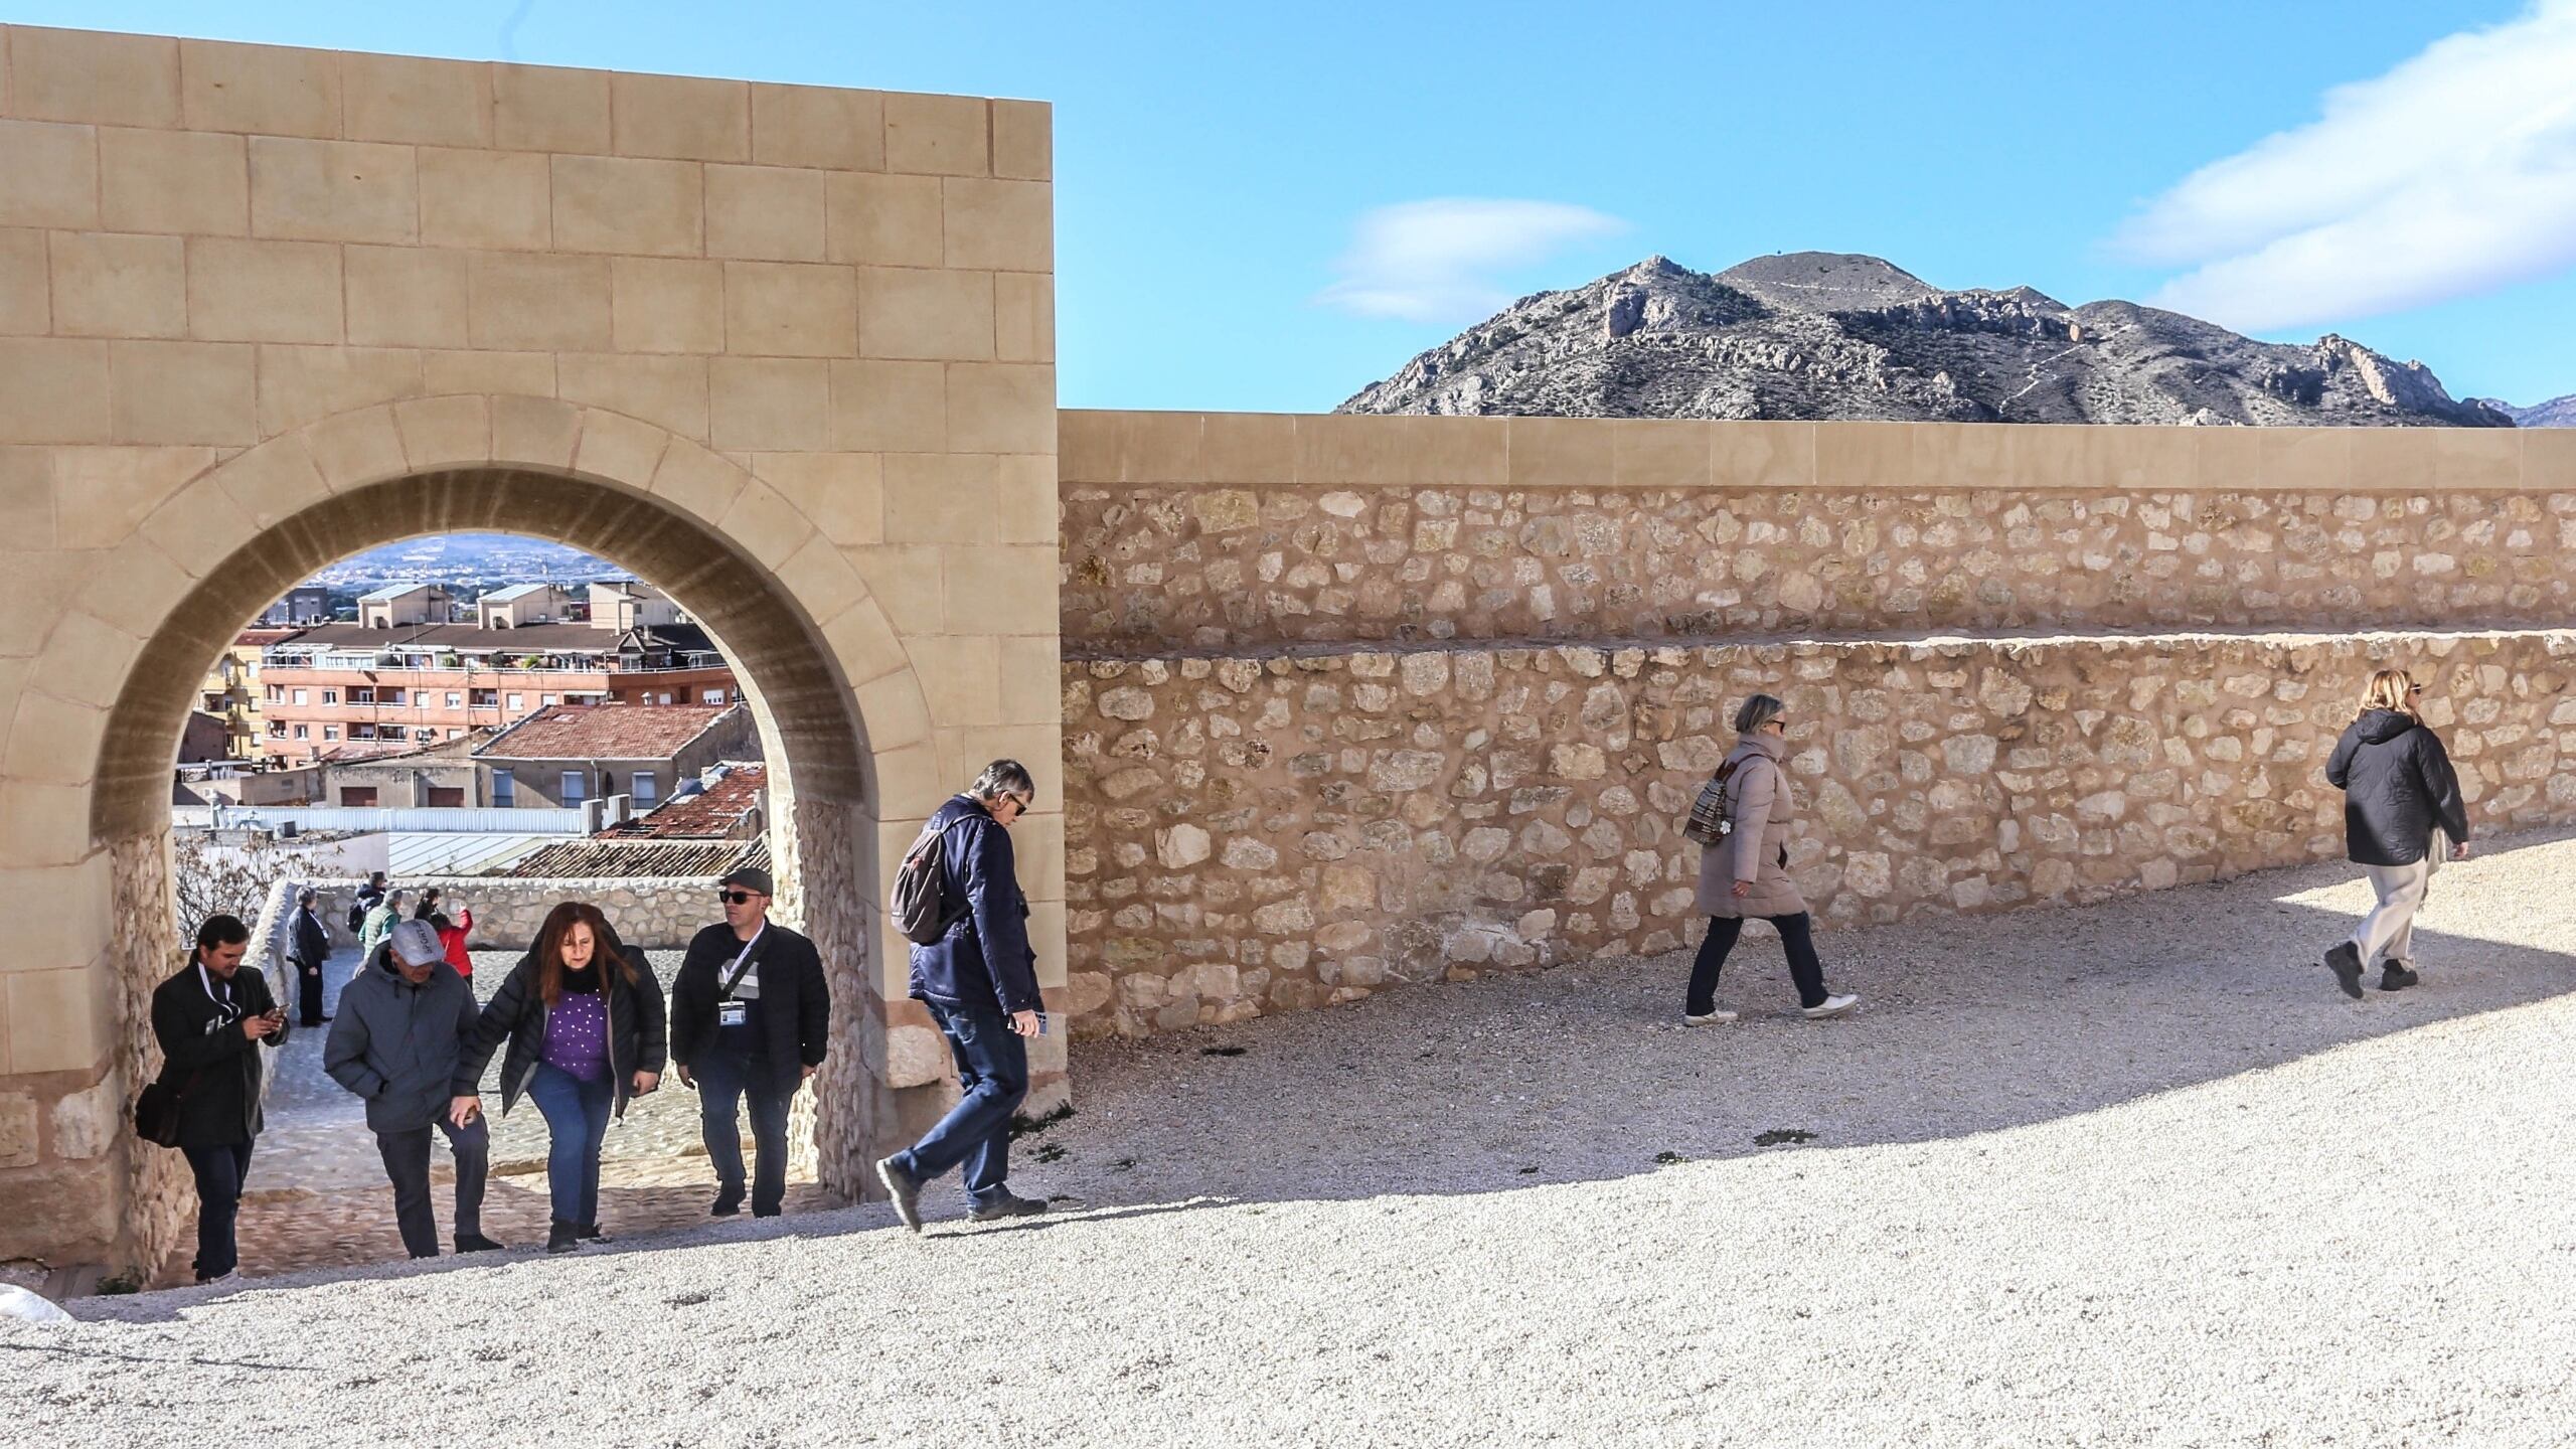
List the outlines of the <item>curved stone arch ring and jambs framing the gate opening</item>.
<svg viewBox="0 0 2576 1449">
<path fill-rule="evenodd" d="M 871 969 L 878 781 L 868 714 L 927 719 L 904 650 L 819 526 L 742 464 L 598 407 L 451 394 L 325 418 L 242 451 L 162 503 L 93 590 L 124 621 L 70 614 L 46 642 L 139 637 L 93 668 L 121 683 L 98 717 L 90 841 L 111 856 L 129 1091 L 152 1060 L 144 995 L 167 969 L 167 815 L 178 722 L 224 645 L 268 601 L 355 549 L 422 534 L 533 534 L 667 588 L 752 696 L 773 761 L 781 913 L 832 962 L 835 1036 L 806 1127 L 827 1186 L 863 1189 L 894 1101 L 881 1088 L 886 1011 Z M 77 743 L 75 743 L 77 748 Z M 809 1101 L 809 1098 L 799 1098 Z M 185 1194 L 167 1152 L 129 1152 L 129 1261 L 152 1261 Z"/>
</svg>

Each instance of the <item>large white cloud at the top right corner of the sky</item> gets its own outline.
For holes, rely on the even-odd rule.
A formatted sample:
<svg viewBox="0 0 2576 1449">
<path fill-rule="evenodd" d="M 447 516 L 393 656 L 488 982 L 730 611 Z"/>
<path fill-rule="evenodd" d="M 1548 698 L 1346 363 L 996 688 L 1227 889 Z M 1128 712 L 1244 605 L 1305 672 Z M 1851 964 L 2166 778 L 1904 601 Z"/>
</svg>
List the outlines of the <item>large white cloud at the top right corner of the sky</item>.
<svg viewBox="0 0 2576 1449">
<path fill-rule="evenodd" d="M 2576 263 L 2576 0 L 2336 85 L 2215 160 L 2115 248 L 2190 266 L 2151 299 L 2239 330 L 2367 317 Z"/>
</svg>

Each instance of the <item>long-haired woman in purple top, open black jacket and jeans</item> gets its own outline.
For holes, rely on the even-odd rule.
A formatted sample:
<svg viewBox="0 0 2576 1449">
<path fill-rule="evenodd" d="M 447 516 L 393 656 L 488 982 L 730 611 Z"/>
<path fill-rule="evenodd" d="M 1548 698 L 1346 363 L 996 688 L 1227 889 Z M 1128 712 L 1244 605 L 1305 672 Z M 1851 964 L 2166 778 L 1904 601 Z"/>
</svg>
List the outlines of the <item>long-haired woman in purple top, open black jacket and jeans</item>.
<svg viewBox="0 0 2576 1449">
<path fill-rule="evenodd" d="M 608 928 L 600 908 L 567 900 L 546 915 L 536 946 L 482 1008 L 474 1042 L 456 1060 L 448 1119 L 482 1114 L 482 1070 L 500 1060 L 500 1109 L 520 1093 L 546 1116 L 546 1191 L 554 1199 L 549 1253 L 567 1253 L 600 1232 L 600 1145 L 608 1116 L 662 1080 L 670 1031 L 662 982 L 644 951 Z"/>
</svg>

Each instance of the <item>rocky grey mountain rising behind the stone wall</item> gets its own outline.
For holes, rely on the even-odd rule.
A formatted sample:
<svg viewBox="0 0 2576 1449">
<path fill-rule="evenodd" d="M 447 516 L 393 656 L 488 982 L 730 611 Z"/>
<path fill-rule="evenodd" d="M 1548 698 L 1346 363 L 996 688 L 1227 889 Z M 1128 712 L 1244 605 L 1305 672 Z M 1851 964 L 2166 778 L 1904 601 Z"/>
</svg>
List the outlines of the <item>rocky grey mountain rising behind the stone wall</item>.
<svg viewBox="0 0 2576 1449">
<path fill-rule="evenodd" d="M 1880 258 L 1667 258 L 1522 297 L 1340 413 L 2509 428 L 2424 364 L 2133 302 L 1942 291 Z"/>
</svg>

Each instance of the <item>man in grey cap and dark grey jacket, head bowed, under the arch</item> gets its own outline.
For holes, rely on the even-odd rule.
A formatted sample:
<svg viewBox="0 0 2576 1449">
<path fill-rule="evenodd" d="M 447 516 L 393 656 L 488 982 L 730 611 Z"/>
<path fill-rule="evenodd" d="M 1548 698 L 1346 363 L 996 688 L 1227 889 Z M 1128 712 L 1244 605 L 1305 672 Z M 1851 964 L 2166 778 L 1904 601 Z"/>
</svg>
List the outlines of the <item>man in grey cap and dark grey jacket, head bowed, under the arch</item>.
<svg viewBox="0 0 2576 1449">
<path fill-rule="evenodd" d="M 386 931 L 358 975 L 340 990 L 340 1013 L 322 1047 L 322 1070 L 366 1098 L 384 1176 L 394 1181 L 394 1220 L 415 1258 L 438 1256 L 430 1214 L 430 1127 L 456 1152 L 456 1250 L 500 1243 L 482 1235 L 482 1189 L 492 1168 L 492 1129 L 477 1116 L 448 1119 L 456 1057 L 474 1039 L 474 987 L 448 964 L 438 928 L 404 920 Z"/>
</svg>

